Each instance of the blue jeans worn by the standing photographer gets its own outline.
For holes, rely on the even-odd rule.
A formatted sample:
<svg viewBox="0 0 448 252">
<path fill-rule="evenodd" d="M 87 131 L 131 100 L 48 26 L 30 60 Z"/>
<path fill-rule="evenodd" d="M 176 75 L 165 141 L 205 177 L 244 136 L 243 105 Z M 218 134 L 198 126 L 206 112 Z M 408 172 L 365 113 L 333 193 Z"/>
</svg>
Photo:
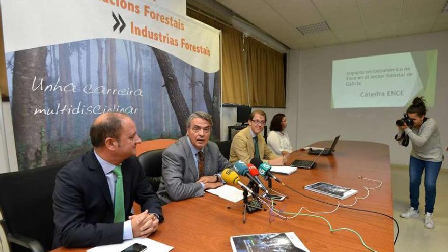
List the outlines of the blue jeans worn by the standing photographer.
<svg viewBox="0 0 448 252">
<path fill-rule="evenodd" d="M 418 209 L 418 198 L 420 197 L 420 183 L 422 182 L 423 170 L 425 170 L 425 213 L 434 212 L 436 201 L 436 181 L 442 162 L 424 161 L 411 156 L 409 160 L 409 192 L 411 207 Z"/>
</svg>

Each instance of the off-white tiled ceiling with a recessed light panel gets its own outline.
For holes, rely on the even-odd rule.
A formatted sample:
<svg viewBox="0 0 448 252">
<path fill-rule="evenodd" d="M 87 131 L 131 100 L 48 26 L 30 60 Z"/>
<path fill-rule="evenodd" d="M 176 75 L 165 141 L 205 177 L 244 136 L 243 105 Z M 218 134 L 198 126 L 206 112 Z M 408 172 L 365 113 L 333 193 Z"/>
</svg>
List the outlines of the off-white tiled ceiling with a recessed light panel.
<svg viewBox="0 0 448 252">
<path fill-rule="evenodd" d="M 217 0 L 292 49 L 448 31 L 446 0 Z M 402 9 L 403 8 L 403 9 Z M 303 36 L 297 26 L 326 21 Z"/>
</svg>

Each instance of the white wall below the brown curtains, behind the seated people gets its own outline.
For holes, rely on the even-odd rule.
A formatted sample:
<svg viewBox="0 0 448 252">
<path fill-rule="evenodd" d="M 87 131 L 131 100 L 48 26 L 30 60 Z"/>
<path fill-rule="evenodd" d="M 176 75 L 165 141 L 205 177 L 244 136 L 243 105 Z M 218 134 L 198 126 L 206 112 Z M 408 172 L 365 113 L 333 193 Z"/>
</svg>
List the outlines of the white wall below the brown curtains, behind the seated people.
<svg viewBox="0 0 448 252">
<path fill-rule="evenodd" d="M 266 126 L 269 133 L 269 125 L 271 123 L 272 117 L 274 117 L 275 114 L 282 113 L 286 114 L 285 108 L 253 108 L 255 109 L 261 109 L 266 113 Z M 222 107 L 221 110 L 221 141 L 225 141 L 228 139 L 229 133 L 228 133 L 228 126 L 232 126 L 236 124 L 236 107 Z M 289 124 L 289 118 L 288 118 L 288 124 Z M 289 132 L 293 132 L 294 130 L 286 130 L 289 134 Z M 235 130 L 232 130 L 232 134 L 235 135 Z M 263 132 L 262 132 L 263 133 Z M 291 143 L 293 144 L 293 143 Z M 294 148 L 294 146 L 293 146 Z"/>
</svg>

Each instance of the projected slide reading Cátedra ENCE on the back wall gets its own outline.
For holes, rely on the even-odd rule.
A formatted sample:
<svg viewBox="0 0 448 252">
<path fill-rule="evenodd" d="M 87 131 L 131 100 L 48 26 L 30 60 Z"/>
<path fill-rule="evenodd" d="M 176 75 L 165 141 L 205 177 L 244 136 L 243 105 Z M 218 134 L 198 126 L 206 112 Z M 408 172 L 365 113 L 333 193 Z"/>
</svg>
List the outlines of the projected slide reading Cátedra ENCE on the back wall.
<svg viewBox="0 0 448 252">
<path fill-rule="evenodd" d="M 434 106 L 437 50 L 333 61 L 331 107 L 405 107 L 415 96 Z"/>
</svg>

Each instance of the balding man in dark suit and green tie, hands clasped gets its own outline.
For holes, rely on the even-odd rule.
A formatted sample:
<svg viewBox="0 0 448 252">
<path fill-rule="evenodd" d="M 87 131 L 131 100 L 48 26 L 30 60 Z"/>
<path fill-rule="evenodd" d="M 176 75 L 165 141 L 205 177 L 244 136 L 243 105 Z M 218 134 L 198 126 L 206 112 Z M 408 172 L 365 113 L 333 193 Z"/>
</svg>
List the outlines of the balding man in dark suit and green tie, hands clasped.
<svg viewBox="0 0 448 252">
<path fill-rule="evenodd" d="M 91 247 L 148 237 L 163 221 L 157 195 L 135 157 L 141 143 L 124 114 L 100 115 L 90 129 L 93 150 L 65 165 L 53 193 L 53 248 Z M 133 215 L 132 204 L 142 213 Z"/>
</svg>

